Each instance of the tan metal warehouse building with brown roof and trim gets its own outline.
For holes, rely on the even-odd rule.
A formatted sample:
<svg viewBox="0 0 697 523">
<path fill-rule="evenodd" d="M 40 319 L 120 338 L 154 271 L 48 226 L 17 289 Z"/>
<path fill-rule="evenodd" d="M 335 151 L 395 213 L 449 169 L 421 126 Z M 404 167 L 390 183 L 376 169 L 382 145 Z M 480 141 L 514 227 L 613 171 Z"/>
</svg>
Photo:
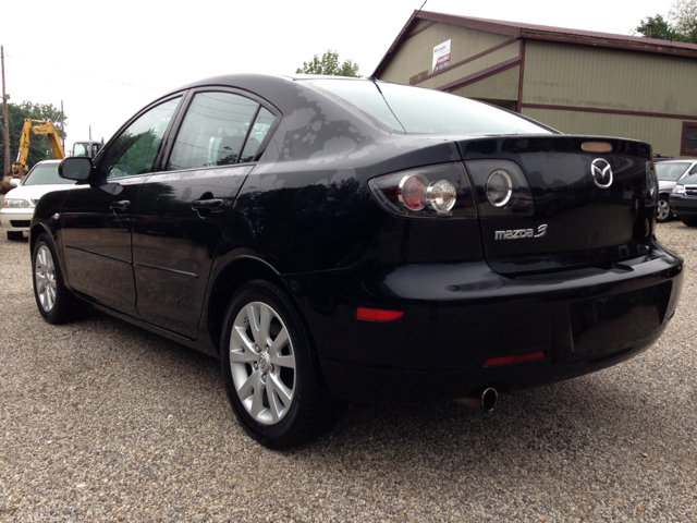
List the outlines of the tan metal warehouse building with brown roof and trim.
<svg viewBox="0 0 697 523">
<path fill-rule="evenodd" d="M 697 157 L 697 45 L 415 12 L 374 76 Z"/>
</svg>

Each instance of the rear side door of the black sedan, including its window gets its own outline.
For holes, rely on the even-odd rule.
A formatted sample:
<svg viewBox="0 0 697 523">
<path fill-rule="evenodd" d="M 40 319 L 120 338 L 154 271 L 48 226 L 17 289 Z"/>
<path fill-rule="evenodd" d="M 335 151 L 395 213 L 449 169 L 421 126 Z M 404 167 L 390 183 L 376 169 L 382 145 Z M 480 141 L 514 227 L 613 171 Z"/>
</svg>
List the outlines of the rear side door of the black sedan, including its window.
<svg viewBox="0 0 697 523">
<path fill-rule="evenodd" d="M 187 104 L 134 208 L 133 262 L 140 317 L 195 339 L 227 216 L 276 115 L 234 90 L 193 92 Z"/>
</svg>

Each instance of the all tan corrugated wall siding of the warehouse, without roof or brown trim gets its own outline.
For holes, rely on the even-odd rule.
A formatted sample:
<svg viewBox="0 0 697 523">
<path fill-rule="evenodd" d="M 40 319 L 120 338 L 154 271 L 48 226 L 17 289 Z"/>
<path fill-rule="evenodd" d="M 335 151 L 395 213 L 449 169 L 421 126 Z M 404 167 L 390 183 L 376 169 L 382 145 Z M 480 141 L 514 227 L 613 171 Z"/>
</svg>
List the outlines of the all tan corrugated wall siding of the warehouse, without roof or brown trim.
<svg viewBox="0 0 697 523">
<path fill-rule="evenodd" d="M 452 39 L 451 64 L 505 42 L 511 37 L 444 23 L 419 21 L 387 64 L 380 80 L 408 84 L 432 73 L 433 47 Z M 514 41 L 477 60 L 429 77 L 417 85 L 437 88 L 498 65 L 519 54 Z M 508 69 L 453 94 L 515 108 L 519 66 Z M 697 117 L 697 60 L 573 44 L 527 40 L 522 112 L 564 133 L 624 136 L 648 142 L 655 153 L 678 157 L 683 122 L 689 118 L 657 118 L 573 110 Z M 560 106 L 541 109 L 527 105 Z M 695 120 L 693 120 L 695 121 Z"/>
</svg>

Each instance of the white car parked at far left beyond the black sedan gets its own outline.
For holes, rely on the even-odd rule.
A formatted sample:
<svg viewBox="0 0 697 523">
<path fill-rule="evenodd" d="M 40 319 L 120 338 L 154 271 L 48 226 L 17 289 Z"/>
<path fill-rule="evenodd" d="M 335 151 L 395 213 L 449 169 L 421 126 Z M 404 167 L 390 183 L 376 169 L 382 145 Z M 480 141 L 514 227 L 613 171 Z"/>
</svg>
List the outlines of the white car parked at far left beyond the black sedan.
<svg viewBox="0 0 697 523">
<path fill-rule="evenodd" d="M 75 184 L 58 175 L 61 160 L 37 162 L 24 181 L 4 195 L 0 209 L 0 221 L 8 233 L 8 240 L 22 240 L 24 231 L 29 230 L 34 207 L 46 193 L 70 188 Z"/>
</svg>

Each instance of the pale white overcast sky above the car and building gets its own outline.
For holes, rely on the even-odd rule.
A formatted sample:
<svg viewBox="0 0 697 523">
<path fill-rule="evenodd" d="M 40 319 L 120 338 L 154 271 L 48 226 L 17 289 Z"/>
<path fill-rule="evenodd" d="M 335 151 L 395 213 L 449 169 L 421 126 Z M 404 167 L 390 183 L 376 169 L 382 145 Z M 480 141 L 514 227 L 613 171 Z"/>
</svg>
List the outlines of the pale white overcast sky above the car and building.
<svg viewBox="0 0 697 523">
<path fill-rule="evenodd" d="M 289 74 L 335 50 L 369 75 L 424 0 L 7 0 L 0 44 L 11 101 L 53 104 L 66 148 L 109 137 L 168 90 L 225 73 Z M 631 34 L 671 0 L 428 0 L 425 11 Z"/>
</svg>

